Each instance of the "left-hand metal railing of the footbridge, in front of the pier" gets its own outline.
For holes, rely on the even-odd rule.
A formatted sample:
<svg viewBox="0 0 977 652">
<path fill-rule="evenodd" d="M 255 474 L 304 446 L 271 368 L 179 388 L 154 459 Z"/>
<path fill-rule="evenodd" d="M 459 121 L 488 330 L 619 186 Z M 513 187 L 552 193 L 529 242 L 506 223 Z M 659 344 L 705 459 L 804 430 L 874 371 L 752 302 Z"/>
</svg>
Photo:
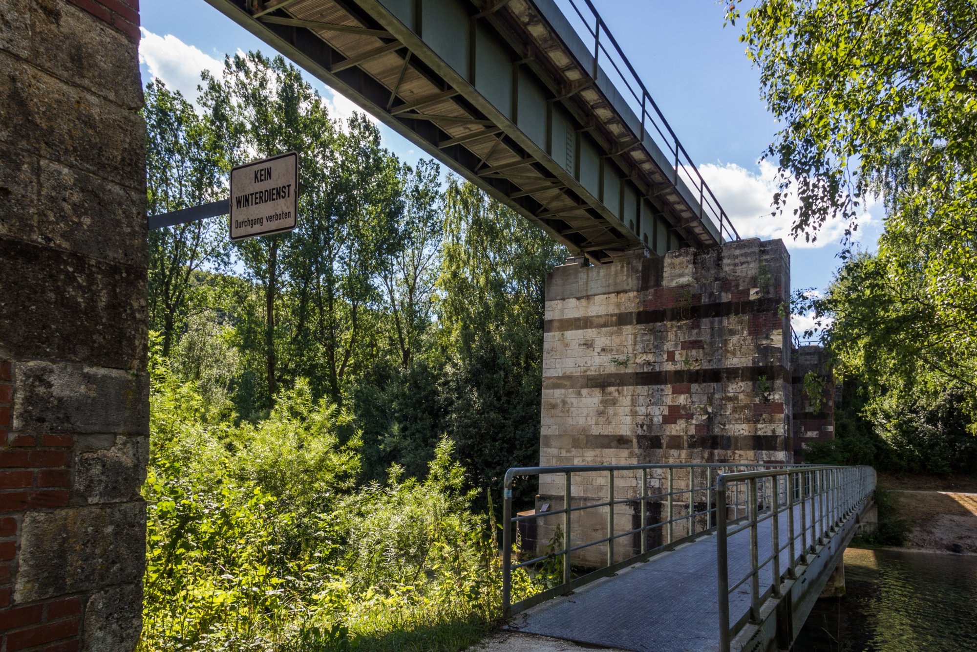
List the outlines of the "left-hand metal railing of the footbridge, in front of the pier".
<svg viewBox="0 0 977 652">
<path fill-rule="evenodd" d="M 720 510 L 716 479 L 783 468 L 783 464 L 744 463 L 510 468 L 505 474 L 502 504 L 505 615 L 711 534 L 719 520 L 727 522 L 718 518 L 720 514 L 745 518 L 749 508 L 746 485 L 727 487 Z M 540 509 L 514 515 L 514 485 L 536 477 Z M 550 509 L 551 505 L 558 508 Z M 536 531 L 532 541 L 519 536 L 521 527 L 529 524 Z M 518 548 L 516 559 L 514 547 Z M 520 570 L 537 579 L 545 574 L 550 586 L 521 594 L 513 603 L 513 573 Z"/>
</svg>

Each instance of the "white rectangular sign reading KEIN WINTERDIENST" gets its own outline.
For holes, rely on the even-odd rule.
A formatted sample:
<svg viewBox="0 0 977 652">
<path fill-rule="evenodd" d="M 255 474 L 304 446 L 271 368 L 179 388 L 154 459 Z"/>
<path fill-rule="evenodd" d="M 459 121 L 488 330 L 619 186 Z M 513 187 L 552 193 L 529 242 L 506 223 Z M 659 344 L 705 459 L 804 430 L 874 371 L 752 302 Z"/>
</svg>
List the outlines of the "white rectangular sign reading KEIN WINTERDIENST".
<svg viewBox="0 0 977 652">
<path fill-rule="evenodd" d="M 299 155 L 283 153 L 231 170 L 231 239 L 268 236 L 295 228 Z"/>
</svg>

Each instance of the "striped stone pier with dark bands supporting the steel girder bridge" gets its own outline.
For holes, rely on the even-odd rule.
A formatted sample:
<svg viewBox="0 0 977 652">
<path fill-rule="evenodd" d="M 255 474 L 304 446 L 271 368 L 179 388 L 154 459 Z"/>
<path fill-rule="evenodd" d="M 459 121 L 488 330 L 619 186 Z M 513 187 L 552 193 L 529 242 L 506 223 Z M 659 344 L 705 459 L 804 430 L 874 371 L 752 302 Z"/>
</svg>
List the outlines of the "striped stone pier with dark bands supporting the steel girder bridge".
<svg viewBox="0 0 977 652">
<path fill-rule="evenodd" d="M 594 267 L 572 258 L 555 268 L 546 279 L 540 465 L 793 461 L 789 292 L 781 240 L 663 257 L 638 250 Z M 625 476 L 615 478 L 618 500 L 640 495 L 640 472 Z M 673 490 L 688 482 L 676 471 Z M 540 477 L 537 511 L 562 508 L 563 483 Z M 664 474 L 650 475 L 649 494 L 665 490 Z M 572 494 L 574 505 L 607 500 L 607 475 L 574 477 Z M 697 493 L 696 511 L 704 501 Z M 677 497 L 673 517 L 688 504 Z M 574 512 L 574 544 L 606 536 L 601 511 Z M 615 531 L 639 527 L 639 512 L 618 505 Z M 663 500 L 650 501 L 648 522 L 663 517 Z M 540 521 L 545 543 L 558 517 Z M 676 523 L 673 537 L 686 529 Z M 658 543 L 660 531 L 650 533 L 649 548 Z M 618 540 L 616 557 L 638 544 Z M 606 554 L 594 546 L 575 561 L 602 565 Z"/>
</svg>

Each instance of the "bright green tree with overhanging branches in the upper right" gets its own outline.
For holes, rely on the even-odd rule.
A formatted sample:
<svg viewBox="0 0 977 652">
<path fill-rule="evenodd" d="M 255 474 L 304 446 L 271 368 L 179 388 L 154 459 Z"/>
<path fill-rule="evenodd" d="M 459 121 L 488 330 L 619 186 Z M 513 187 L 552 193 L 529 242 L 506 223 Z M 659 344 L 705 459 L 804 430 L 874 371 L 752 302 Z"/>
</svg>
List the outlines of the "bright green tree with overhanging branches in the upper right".
<svg viewBox="0 0 977 652">
<path fill-rule="evenodd" d="M 974 0 L 765 0 L 747 12 L 742 37 L 785 125 L 766 154 L 780 162 L 775 208 L 800 199 L 795 235 L 814 239 L 840 218 L 847 239 L 861 201 L 885 203 L 877 255 L 846 265 L 832 299 L 813 304 L 834 320 L 829 341 L 850 347 L 849 358 L 889 346 L 903 377 L 935 374 L 916 386 L 942 379 L 971 394 L 975 15 Z M 729 18 L 737 16 L 733 2 Z M 843 288 L 860 299 L 843 301 Z"/>
</svg>

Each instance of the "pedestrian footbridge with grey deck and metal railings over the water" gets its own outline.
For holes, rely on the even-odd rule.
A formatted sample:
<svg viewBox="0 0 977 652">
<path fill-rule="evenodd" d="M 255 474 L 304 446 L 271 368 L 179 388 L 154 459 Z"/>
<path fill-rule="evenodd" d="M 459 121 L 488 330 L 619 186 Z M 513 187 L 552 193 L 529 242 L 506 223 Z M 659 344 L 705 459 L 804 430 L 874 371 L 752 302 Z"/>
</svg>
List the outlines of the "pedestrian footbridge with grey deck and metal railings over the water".
<svg viewBox="0 0 977 652">
<path fill-rule="evenodd" d="M 564 496 L 514 514 L 536 476 Z M 595 485 L 605 500 L 574 498 Z M 508 627 L 626 650 L 789 649 L 874 487 L 867 466 L 509 469 Z M 533 593 L 531 575 L 551 588 Z"/>
</svg>

